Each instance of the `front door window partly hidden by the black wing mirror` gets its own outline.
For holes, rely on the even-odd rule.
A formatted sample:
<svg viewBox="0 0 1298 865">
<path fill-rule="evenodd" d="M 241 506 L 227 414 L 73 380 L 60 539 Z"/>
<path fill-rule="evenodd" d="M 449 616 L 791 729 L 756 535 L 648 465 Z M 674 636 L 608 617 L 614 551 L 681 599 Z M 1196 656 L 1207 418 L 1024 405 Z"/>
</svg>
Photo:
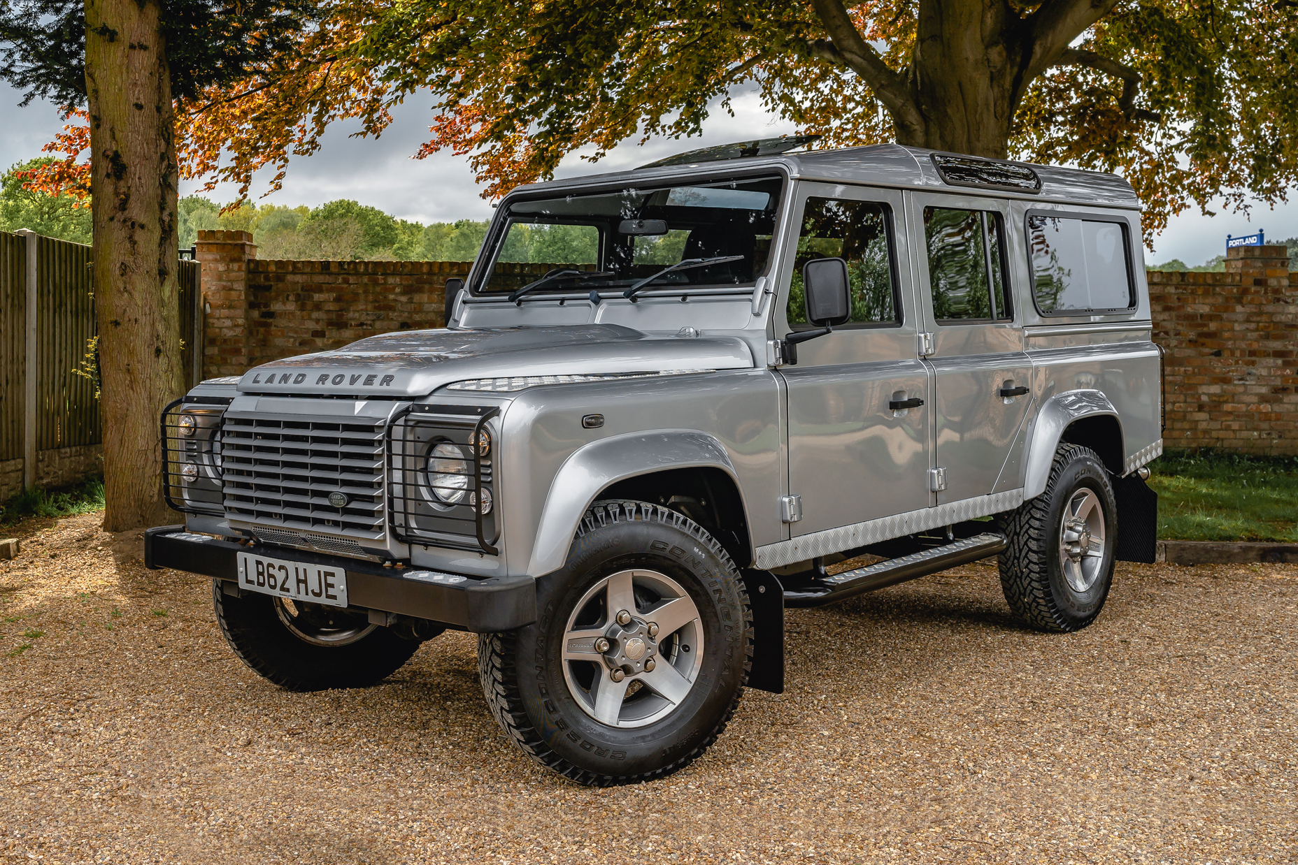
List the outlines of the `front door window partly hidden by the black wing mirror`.
<svg viewBox="0 0 1298 865">
<path fill-rule="evenodd" d="M 855 324 L 900 324 L 893 283 L 892 245 L 888 243 L 888 206 L 874 201 L 807 198 L 802 210 L 798 252 L 785 315 L 790 326 L 806 329 L 802 266 L 816 258 L 848 262 L 851 315 Z"/>
</svg>

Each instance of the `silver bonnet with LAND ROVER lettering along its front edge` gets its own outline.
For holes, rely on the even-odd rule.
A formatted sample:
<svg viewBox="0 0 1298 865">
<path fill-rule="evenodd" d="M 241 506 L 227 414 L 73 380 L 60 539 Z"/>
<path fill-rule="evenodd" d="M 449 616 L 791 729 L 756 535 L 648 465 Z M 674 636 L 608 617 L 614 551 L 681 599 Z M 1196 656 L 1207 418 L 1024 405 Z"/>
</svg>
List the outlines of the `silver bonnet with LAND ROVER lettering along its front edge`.
<svg viewBox="0 0 1298 865">
<path fill-rule="evenodd" d="M 263 363 L 240 393 L 422 397 L 466 379 L 600 372 L 746 370 L 735 337 L 657 336 L 619 324 L 402 331 L 334 351 Z"/>
</svg>

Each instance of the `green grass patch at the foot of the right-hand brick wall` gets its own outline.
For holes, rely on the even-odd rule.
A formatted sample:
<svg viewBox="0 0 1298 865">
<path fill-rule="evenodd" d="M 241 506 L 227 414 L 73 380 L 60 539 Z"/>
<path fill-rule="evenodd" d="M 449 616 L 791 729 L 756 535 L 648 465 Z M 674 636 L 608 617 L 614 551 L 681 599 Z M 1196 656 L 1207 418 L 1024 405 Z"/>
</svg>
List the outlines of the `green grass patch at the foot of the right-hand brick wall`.
<svg viewBox="0 0 1298 865">
<path fill-rule="evenodd" d="M 1298 456 L 1169 451 L 1149 468 L 1163 539 L 1298 542 Z"/>
</svg>

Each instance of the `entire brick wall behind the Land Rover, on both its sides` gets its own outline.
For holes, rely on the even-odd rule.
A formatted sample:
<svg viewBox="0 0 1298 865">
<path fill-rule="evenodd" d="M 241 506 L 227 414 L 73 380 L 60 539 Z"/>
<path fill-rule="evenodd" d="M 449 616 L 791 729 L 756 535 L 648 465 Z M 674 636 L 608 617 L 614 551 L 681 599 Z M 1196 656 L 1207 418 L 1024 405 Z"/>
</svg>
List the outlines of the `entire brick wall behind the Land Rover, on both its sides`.
<svg viewBox="0 0 1298 865">
<path fill-rule="evenodd" d="M 200 231 L 204 376 L 373 333 L 443 326 L 447 280 L 469 262 L 258 261 L 245 231 Z M 552 265 L 501 265 L 519 284 Z M 1298 274 L 1284 246 L 1232 249 L 1224 274 L 1150 272 L 1167 350 L 1167 447 L 1298 454 Z"/>
</svg>

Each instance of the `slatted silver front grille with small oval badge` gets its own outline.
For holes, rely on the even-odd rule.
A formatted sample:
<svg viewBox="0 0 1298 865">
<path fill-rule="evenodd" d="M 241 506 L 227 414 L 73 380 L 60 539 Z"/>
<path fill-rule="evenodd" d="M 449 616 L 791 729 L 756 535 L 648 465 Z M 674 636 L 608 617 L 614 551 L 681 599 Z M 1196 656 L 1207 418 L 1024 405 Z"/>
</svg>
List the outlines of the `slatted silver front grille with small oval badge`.
<svg viewBox="0 0 1298 865">
<path fill-rule="evenodd" d="M 271 420 L 227 412 L 222 429 L 226 516 L 252 523 L 258 532 L 278 528 L 383 539 L 386 421 L 350 420 Z M 330 503 L 334 493 L 347 497 L 341 507 Z"/>
</svg>

